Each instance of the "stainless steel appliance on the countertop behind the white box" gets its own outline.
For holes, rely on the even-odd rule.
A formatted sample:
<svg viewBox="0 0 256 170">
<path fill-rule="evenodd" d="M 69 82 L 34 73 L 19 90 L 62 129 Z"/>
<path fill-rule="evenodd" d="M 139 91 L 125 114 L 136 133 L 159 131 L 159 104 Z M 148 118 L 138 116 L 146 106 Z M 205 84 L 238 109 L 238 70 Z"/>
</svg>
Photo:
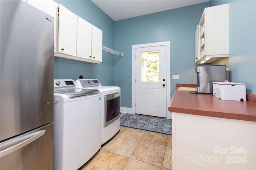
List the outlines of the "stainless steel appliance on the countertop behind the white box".
<svg viewBox="0 0 256 170">
<path fill-rule="evenodd" d="M 226 65 L 203 65 L 195 67 L 196 93 L 212 94 L 212 82 L 227 80 Z"/>
</svg>

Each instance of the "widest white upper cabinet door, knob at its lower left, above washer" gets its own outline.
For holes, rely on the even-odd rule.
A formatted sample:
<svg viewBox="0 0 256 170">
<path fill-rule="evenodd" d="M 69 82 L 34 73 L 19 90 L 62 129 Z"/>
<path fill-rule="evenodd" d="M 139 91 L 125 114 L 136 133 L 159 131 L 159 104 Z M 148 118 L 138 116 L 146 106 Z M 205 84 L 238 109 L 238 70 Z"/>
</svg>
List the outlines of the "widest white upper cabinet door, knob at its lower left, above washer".
<svg viewBox="0 0 256 170">
<path fill-rule="evenodd" d="M 58 52 L 76 56 L 77 16 L 60 4 Z"/>
</svg>

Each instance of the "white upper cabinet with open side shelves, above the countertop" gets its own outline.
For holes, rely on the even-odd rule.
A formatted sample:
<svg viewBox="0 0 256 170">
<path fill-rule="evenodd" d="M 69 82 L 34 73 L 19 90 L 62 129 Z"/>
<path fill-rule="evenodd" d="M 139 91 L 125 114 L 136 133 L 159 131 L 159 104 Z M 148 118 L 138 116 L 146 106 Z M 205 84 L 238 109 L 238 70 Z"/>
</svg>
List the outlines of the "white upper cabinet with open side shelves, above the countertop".
<svg viewBox="0 0 256 170">
<path fill-rule="evenodd" d="M 199 47 L 195 37 L 195 55 L 199 49 L 196 64 L 212 63 L 220 57 L 229 56 L 228 8 L 228 4 L 204 8 L 199 23 Z"/>
</svg>

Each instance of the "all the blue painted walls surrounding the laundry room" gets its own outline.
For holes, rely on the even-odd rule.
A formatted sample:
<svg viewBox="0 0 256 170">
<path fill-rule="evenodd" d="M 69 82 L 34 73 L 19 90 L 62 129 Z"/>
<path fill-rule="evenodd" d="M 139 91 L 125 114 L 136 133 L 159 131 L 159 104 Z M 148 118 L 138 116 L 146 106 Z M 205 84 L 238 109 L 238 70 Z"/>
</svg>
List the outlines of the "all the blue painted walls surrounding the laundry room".
<svg viewBox="0 0 256 170">
<path fill-rule="evenodd" d="M 256 2 L 210 0 L 210 2 L 167 10 L 126 20 L 113 21 L 88 0 L 55 0 L 103 31 L 103 45 L 124 53 L 123 57 L 103 52 L 101 64 L 55 57 L 54 78 L 98 78 L 102 85 L 121 87 L 121 107 L 131 107 L 132 45 L 171 42 L 171 96 L 176 83 L 194 80 L 194 33 L 205 7 L 230 3 L 230 57 L 213 64 L 227 64 L 232 82 L 246 83 L 256 94 Z"/>
</svg>

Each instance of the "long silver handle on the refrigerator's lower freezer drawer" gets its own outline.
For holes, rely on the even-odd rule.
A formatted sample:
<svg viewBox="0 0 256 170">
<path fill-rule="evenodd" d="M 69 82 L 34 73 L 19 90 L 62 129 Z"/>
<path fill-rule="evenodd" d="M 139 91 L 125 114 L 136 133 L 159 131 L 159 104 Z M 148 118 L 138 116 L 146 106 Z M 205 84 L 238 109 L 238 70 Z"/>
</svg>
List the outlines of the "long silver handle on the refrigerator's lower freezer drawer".
<svg viewBox="0 0 256 170">
<path fill-rule="evenodd" d="M 8 141 L 0 143 L 0 158 L 32 143 L 33 141 L 44 135 L 44 133 L 45 130 L 32 131 L 30 133 L 26 133 L 24 135 L 15 137 L 14 139 L 10 139 Z"/>
</svg>

